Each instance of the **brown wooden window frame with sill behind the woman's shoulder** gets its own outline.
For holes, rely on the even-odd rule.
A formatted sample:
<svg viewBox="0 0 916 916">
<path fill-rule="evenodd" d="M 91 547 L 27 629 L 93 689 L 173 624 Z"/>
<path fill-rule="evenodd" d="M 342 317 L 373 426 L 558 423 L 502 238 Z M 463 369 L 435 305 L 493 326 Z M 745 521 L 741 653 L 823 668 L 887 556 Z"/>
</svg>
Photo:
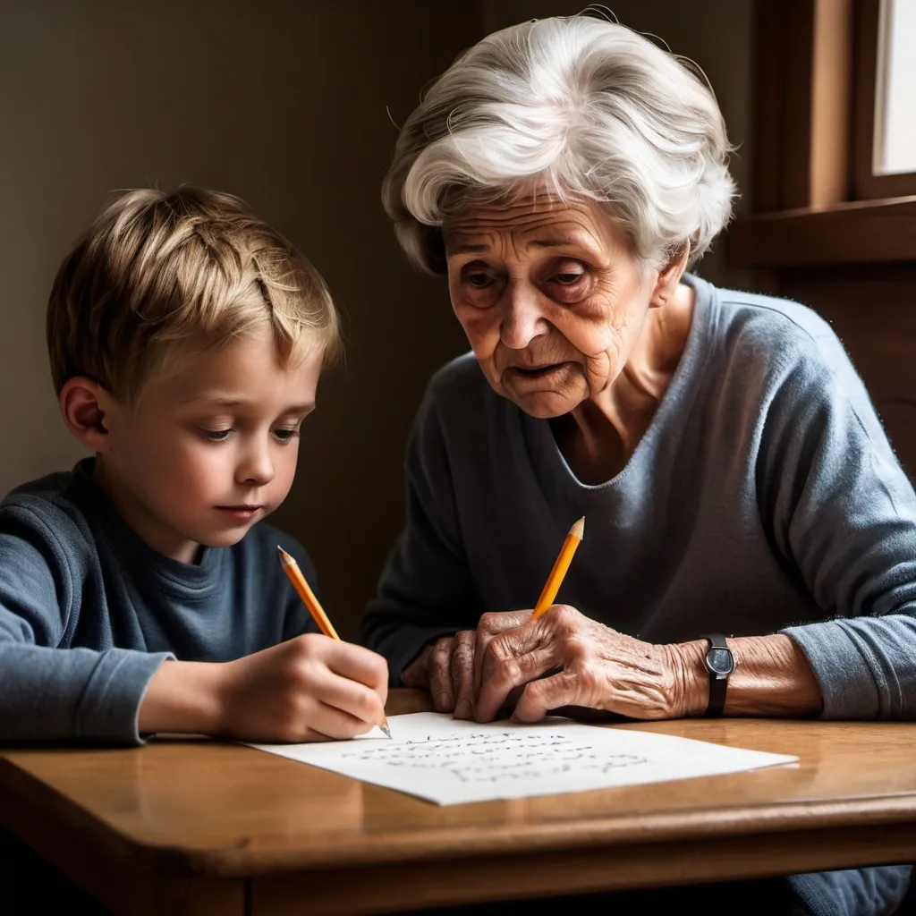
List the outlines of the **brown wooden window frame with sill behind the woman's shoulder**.
<svg viewBox="0 0 916 916">
<path fill-rule="evenodd" d="M 916 260 L 916 194 L 897 193 L 914 176 L 870 174 L 879 9 L 758 0 L 754 214 L 728 234 L 736 266 Z M 864 190 L 882 196 L 856 200 Z"/>
</svg>

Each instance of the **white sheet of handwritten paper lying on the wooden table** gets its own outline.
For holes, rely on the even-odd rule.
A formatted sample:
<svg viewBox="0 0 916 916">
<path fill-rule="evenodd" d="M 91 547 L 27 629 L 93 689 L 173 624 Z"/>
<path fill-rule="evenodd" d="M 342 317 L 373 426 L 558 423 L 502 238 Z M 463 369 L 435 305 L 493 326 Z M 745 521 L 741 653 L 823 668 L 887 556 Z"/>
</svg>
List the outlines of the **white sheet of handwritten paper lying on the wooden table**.
<svg viewBox="0 0 916 916">
<path fill-rule="evenodd" d="M 391 740 L 374 730 L 353 741 L 250 747 L 442 805 L 716 776 L 798 760 L 559 717 L 537 725 L 480 725 L 414 713 L 393 715 L 388 725 Z"/>
</svg>

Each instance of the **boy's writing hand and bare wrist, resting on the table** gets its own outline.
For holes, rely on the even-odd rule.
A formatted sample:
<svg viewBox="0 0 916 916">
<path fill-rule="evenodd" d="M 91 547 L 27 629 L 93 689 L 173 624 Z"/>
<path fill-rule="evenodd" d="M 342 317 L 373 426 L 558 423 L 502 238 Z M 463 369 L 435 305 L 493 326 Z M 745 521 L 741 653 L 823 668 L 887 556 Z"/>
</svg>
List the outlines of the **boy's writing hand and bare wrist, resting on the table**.
<svg viewBox="0 0 916 916">
<path fill-rule="evenodd" d="M 164 662 L 139 727 L 265 743 L 352 738 L 382 721 L 387 680 L 380 655 L 310 633 L 220 664 Z"/>
</svg>

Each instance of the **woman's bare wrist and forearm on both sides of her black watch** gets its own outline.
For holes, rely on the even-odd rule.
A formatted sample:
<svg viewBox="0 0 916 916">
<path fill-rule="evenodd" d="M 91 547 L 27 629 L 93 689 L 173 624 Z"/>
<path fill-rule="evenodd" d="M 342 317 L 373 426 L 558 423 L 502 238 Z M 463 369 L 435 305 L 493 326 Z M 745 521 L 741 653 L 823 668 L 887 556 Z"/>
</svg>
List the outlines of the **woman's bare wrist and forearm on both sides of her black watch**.
<svg viewBox="0 0 916 916">
<path fill-rule="evenodd" d="M 782 634 L 728 640 L 735 671 L 728 678 L 725 715 L 808 718 L 823 707 L 821 688 L 802 649 Z M 702 715 L 709 702 L 704 640 L 674 647 L 686 684 L 684 714 Z"/>
</svg>

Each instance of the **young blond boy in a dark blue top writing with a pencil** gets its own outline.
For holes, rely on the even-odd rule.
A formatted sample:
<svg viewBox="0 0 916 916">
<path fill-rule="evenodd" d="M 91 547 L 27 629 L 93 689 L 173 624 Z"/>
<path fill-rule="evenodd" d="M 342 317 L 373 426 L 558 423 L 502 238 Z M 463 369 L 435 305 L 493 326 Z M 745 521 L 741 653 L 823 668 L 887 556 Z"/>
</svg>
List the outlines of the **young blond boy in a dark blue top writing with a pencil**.
<svg viewBox="0 0 916 916">
<path fill-rule="evenodd" d="M 0 503 L 0 740 L 348 738 L 385 660 L 315 632 L 258 524 L 337 354 L 322 279 L 236 198 L 128 191 L 64 260 L 51 372 L 95 454 Z"/>
</svg>

